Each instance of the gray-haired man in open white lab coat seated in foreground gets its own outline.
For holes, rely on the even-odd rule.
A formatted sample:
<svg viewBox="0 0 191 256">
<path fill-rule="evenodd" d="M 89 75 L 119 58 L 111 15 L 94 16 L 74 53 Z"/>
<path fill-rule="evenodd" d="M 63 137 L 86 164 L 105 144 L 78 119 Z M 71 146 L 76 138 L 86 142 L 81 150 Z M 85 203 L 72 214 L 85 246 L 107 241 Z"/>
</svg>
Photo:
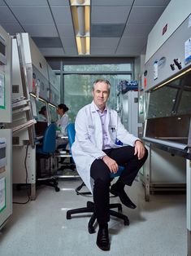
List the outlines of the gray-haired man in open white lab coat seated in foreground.
<svg viewBox="0 0 191 256">
<path fill-rule="evenodd" d="M 111 84 L 99 79 L 93 83 L 93 102 L 81 108 L 76 116 L 76 138 L 72 145 L 72 157 L 86 186 L 93 192 L 95 214 L 99 224 L 97 245 L 109 250 L 108 222 L 110 220 L 111 173 L 116 173 L 119 165 L 125 170 L 111 193 L 129 208 L 136 208 L 124 192 L 124 186 L 131 186 L 138 170 L 148 155 L 141 140 L 128 133 L 115 110 L 106 106 Z M 119 139 L 124 144 L 116 145 Z"/>
</svg>

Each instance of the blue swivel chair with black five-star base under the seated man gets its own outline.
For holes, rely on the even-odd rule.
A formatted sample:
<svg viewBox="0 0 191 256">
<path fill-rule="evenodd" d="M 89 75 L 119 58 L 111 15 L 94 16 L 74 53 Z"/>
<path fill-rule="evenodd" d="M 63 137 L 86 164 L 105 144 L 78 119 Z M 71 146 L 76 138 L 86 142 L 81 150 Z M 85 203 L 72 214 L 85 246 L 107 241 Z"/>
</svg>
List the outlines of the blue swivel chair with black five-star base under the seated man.
<svg viewBox="0 0 191 256">
<path fill-rule="evenodd" d="M 70 143 L 70 148 L 72 147 L 72 143 L 75 140 L 75 126 L 74 123 L 70 123 L 67 126 L 67 135 L 68 135 L 68 140 Z M 119 170 L 115 173 L 115 174 L 111 174 L 111 180 L 114 179 L 115 177 L 118 177 L 122 171 L 124 170 L 123 166 L 119 166 Z M 78 188 L 82 188 L 85 185 L 85 183 L 82 183 Z M 77 190 L 77 189 L 76 189 Z M 79 193 L 79 190 L 76 191 L 77 195 L 78 194 L 83 194 L 83 193 Z M 86 193 L 86 192 L 85 192 Z M 114 196 L 112 196 L 114 197 Z M 118 212 L 116 212 L 115 210 L 111 210 L 117 208 Z M 121 214 L 122 212 L 122 205 L 121 204 L 110 204 L 110 214 L 111 216 L 115 216 L 117 218 L 123 219 L 124 220 L 124 225 L 129 225 L 129 220 L 128 217 L 124 214 Z M 92 201 L 87 201 L 87 205 L 86 207 L 82 207 L 82 208 L 77 208 L 77 209 L 72 209 L 72 210 L 67 210 L 67 219 L 71 219 L 72 218 L 72 214 L 84 214 L 84 213 L 93 213 L 91 215 L 91 218 L 89 219 L 89 233 L 92 234 L 95 232 L 95 229 L 93 227 L 93 224 L 95 223 L 96 217 L 94 214 L 94 205 Z"/>
</svg>

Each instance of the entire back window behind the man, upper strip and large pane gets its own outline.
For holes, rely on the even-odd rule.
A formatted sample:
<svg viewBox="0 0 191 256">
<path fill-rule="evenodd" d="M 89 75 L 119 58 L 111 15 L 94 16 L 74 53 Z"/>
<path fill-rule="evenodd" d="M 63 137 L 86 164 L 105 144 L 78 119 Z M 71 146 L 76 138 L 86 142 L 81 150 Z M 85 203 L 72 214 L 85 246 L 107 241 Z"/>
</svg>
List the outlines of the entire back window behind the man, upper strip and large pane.
<svg viewBox="0 0 191 256">
<path fill-rule="evenodd" d="M 132 80 L 132 64 L 89 64 L 65 65 L 63 75 L 64 104 L 69 108 L 70 121 L 75 121 L 76 114 L 85 104 L 93 100 L 93 82 L 98 78 L 111 82 L 111 95 L 108 105 L 118 108 L 118 85 L 121 80 Z"/>
</svg>

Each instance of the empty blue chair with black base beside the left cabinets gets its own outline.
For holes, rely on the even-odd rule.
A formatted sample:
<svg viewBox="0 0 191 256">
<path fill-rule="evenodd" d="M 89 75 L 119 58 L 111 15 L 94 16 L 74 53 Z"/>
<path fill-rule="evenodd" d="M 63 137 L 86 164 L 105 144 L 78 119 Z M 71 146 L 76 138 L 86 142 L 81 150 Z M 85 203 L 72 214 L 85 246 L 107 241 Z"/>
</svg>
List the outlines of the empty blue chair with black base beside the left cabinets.
<svg viewBox="0 0 191 256">
<path fill-rule="evenodd" d="M 56 126 L 50 124 L 46 128 L 45 134 L 41 144 L 36 146 L 36 157 L 37 157 L 37 185 L 45 184 L 47 186 L 53 187 L 56 192 L 59 192 L 57 179 L 51 175 L 54 157 L 54 152 L 56 148 Z M 42 175 L 41 171 L 41 159 L 50 159 L 50 171 L 46 175 Z"/>
</svg>

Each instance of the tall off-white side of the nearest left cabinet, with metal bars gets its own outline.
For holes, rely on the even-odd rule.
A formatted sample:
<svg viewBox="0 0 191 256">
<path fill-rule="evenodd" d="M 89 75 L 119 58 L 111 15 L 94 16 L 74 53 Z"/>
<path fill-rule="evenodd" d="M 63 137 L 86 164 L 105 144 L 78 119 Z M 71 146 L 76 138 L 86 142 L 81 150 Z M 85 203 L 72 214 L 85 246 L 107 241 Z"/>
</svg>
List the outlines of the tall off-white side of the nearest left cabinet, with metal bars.
<svg viewBox="0 0 191 256">
<path fill-rule="evenodd" d="M 12 38 L 12 129 L 13 183 L 29 184 L 30 198 L 35 198 L 36 150 L 34 143 L 33 100 L 29 94 L 33 88 L 33 66 L 28 61 L 29 40 L 17 34 Z M 29 51 L 29 53 L 28 53 Z M 28 53 L 28 54 L 26 54 Z"/>
</svg>

